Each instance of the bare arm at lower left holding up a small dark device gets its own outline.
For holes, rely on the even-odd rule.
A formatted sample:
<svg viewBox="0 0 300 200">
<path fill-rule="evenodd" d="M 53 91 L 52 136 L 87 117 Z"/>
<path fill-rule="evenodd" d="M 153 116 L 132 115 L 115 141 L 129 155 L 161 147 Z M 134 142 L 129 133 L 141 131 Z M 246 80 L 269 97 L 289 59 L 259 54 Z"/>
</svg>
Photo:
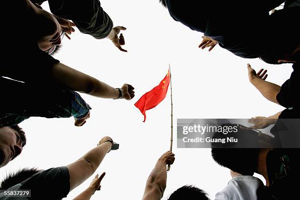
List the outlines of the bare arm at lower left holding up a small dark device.
<svg viewBox="0 0 300 200">
<path fill-rule="evenodd" d="M 67 166 L 70 173 L 70 191 L 95 173 L 106 153 L 111 149 L 112 143 L 105 142 L 108 140 L 111 138 L 102 138 L 98 147 L 88 151 L 79 160 Z"/>
</svg>

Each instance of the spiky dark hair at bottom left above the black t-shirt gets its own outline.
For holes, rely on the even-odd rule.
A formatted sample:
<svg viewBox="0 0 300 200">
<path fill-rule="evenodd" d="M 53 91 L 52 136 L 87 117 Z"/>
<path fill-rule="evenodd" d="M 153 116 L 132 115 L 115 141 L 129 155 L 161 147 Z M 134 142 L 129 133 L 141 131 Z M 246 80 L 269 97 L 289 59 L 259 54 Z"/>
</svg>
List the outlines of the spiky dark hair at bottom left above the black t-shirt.
<svg viewBox="0 0 300 200">
<path fill-rule="evenodd" d="M 6 177 L 1 181 L 0 183 L 0 189 L 1 190 L 7 190 L 8 188 L 11 188 L 19 183 L 22 183 L 26 179 L 30 178 L 31 176 L 35 175 L 38 172 L 41 172 L 42 170 L 39 170 L 37 168 L 24 168 L 21 169 L 15 173 L 9 173 L 6 175 Z"/>
</svg>

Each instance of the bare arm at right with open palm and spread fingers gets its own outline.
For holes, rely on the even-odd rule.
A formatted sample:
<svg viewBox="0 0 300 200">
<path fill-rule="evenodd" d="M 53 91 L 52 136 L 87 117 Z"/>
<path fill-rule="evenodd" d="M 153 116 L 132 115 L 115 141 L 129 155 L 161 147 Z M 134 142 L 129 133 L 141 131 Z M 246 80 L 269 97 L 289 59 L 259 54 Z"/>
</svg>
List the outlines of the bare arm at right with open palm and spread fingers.
<svg viewBox="0 0 300 200">
<path fill-rule="evenodd" d="M 267 70 L 262 73 L 263 69 L 261 69 L 256 74 L 255 70 L 251 68 L 250 64 L 247 64 L 247 67 L 250 83 L 252 83 L 252 85 L 254 85 L 267 100 L 279 104 L 276 100 L 276 95 L 279 93 L 281 87 L 274 83 L 265 81 L 267 78 Z"/>
</svg>

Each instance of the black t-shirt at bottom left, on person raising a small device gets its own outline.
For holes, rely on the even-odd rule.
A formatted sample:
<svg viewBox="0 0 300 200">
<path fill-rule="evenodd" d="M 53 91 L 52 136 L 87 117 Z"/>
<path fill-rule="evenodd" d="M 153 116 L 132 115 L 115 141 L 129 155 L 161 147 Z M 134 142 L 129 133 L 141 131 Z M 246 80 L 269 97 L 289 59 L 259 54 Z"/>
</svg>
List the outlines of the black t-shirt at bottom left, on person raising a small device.
<svg viewBox="0 0 300 200">
<path fill-rule="evenodd" d="M 8 190 L 31 190 L 31 200 L 61 200 L 70 192 L 70 174 L 67 167 L 41 171 Z M 5 197 L 1 200 L 27 200 L 27 198 Z"/>
</svg>

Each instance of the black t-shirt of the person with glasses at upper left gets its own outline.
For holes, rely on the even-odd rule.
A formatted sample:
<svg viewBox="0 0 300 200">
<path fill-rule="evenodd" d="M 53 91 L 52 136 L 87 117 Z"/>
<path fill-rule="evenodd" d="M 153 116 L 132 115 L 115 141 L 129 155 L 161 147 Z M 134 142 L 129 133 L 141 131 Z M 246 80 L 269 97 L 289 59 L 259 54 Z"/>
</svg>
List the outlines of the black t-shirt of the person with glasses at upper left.
<svg viewBox="0 0 300 200">
<path fill-rule="evenodd" d="M 39 49 L 33 31 L 38 25 L 33 22 L 26 1 L 4 1 L 3 7 L 12 10 L 2 25 L 5 38 L 1 40 L 3 64 L 0 76 L 33 85 L 49 83 L 52 80 L 52 67 L 59 61 Z"/>
</svg>

